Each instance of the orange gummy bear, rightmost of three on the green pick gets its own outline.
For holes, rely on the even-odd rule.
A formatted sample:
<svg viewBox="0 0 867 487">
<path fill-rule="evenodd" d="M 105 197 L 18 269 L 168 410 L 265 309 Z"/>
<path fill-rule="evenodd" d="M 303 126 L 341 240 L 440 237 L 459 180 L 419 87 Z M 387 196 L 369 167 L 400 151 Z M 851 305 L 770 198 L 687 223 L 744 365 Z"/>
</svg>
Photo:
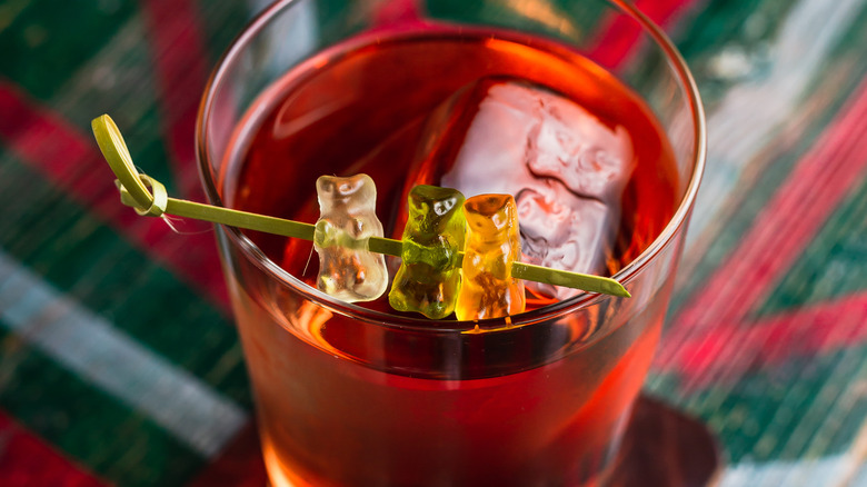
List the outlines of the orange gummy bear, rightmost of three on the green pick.
<svg viewBox="0 0 867 487">
<path fill-rule="evenodd" d="M 475 196 L 464 203 L 464 285 L 455 315 L 460 320 L 475 320 L 524 311 L 524 281 L 511 277 L 511 265 L 521 255 L 515 199 L 509 195 Z"/>
</svg>

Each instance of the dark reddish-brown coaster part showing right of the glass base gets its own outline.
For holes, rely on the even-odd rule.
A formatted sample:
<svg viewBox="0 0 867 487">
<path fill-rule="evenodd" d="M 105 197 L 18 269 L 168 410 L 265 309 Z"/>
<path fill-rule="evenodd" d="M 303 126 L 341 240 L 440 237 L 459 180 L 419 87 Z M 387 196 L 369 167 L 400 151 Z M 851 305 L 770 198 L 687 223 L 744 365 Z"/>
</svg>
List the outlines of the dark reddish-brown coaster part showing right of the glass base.
<svg viewBox="0 0 867 487">
<path fill-rule="evenodd" d="M 609 487 L 710 487 L 722 458 L 710 430 L 695 418 L 641 396 L 627 426 Z"/>
</svg>

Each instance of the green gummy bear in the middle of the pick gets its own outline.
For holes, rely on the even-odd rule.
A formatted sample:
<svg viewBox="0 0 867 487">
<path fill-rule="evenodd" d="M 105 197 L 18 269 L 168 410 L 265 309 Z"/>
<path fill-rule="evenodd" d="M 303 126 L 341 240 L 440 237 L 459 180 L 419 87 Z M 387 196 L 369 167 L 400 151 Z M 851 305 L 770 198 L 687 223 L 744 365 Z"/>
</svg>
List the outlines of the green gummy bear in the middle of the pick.
<svg viewBox="0 0 867 487">
<path fill-rule="evenodd" d="M 398 311 L 417 311 L 430 319 L 455 310 L 460 288 L 458 252 L 464 248 L 464 195 L 450 188 L 419 185 L 407 198 L 402 262 L 388 302 Z"/>
</svg>

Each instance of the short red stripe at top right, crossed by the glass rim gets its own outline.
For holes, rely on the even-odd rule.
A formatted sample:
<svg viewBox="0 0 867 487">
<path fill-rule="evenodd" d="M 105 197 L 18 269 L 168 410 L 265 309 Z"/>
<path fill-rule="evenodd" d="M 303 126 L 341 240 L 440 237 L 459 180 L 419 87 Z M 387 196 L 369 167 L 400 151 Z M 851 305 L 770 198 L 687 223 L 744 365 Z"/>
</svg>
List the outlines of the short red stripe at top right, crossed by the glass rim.
<svg viewBox="0 0 867 487">
<path fill-rule="evenodd" d="M 672 23 L 695 0 L 638 0 L 635 7 L 657 26 Z M 635 51 L 641 28 L 630 17 L 612 14 L 600 22 L 600 29 L 589 49 L 590 57 L 609 70 L 617 70 Z"/>
</svg>

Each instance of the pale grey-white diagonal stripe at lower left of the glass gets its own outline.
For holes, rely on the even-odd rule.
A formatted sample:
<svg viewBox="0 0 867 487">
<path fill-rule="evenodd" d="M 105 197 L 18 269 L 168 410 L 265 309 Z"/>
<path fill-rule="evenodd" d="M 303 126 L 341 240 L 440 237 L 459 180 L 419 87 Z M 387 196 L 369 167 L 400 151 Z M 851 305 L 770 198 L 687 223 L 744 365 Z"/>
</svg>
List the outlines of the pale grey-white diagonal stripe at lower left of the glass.
<svg viewBox="0 0 867 487">
<path fill-rule="evenodd" d="M 2 325 L 84 380 L 147 415 L 205 457 L 247 423 L 247 413 L 124 335 L 0 251 Z"/>
</svg>

